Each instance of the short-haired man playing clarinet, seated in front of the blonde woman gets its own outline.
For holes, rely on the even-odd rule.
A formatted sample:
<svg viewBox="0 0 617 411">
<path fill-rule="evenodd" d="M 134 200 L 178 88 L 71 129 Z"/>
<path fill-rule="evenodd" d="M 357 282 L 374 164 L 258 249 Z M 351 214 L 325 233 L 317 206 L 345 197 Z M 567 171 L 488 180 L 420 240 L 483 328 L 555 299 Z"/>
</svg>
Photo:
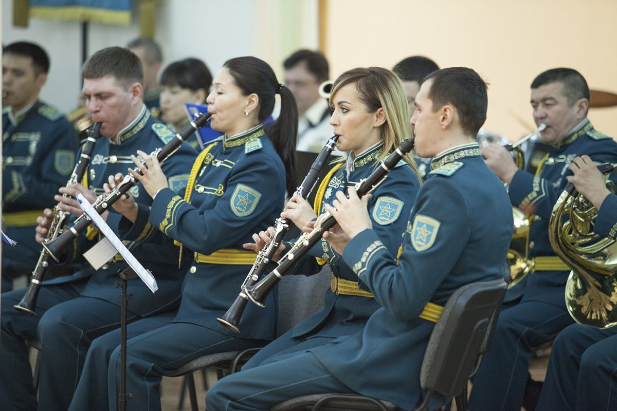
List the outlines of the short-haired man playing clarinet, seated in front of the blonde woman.
<svg viewBox="0 0 617 411">
<path fill-rule="evenodd" d="M 326 205 L 344 234 L 325 237 L 381 307 L 359 332 L 226 376 L 210 389 L 208 410 L 270 409 L 292 393 L 360 393 L 406 410 L 421 402 L 420 367 L 439 317 L 429 312 L 441 312 L 463 285 L 502 278 L 510 243 L 507 194 L 475 142 L 486 104 L 486 84 L 469 68 L 446 68 L 424 81 L 411 122 L 433 171 L 416 197 L 399 258 L 372 229 L 353 188 L 349 198 L 338 191 Z M 435 396 L 429 409 L 445 402 Z"/>
</svg>

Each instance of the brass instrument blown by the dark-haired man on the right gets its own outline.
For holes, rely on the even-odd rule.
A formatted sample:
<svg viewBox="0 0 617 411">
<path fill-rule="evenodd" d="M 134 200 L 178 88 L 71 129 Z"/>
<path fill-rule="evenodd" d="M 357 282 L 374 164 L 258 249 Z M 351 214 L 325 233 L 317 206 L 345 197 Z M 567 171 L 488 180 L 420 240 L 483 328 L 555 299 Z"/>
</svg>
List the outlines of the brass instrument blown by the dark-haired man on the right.
<svg viewBox="0 0 617 411">
<path fill-rule="evenodd" d="M 524 136 L 512 145 L 505 145 L 505 149 L 513 153 L 514 162 L 519 169 L 525 168 L 525 158 L 523 150 L 520 146 L 527 140 L 534 136 L 537 136 L 541 131 L 546 128 L 546 124 L 540 123 L 538 128 Z M 510 242 L 510 248 L 508 248 L 507 261 L 510 266 L 510 283 L 508 288 L 515 286 L 530 274 L 534 267 L 533 261 L 529 259 L 527 252 L 527 236 L 529 233 L 529 219 L 523 211 L 518 207 L 512 207 L 512 214 L 514 219 L 514 231 L 512 233 L 512 240 Z"/>
</svg>

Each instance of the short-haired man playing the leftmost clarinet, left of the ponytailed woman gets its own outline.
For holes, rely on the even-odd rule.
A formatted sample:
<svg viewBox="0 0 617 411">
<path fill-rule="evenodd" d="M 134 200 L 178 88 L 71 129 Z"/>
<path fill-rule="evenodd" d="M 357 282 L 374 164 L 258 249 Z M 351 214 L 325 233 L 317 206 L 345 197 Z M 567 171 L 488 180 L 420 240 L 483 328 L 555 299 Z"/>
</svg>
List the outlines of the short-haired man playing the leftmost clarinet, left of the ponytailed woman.
<svg viewBox="0 0 617 411">
<path fill-rule="evenodd" d="M 138 57 L 123 47 L 108 47 L 94 53 L 81 70 L 83 96 L 86 107 L 95 123 L 101 123 L 97 140 L 86 173 L 86 185 L 71 184 L 60 187 L 56 200 L 60 208 L 75 216 L 81 215 L 75 198 L 80 192 L 93 202 L 104 193 L 103 185 L 109 176 L 126 174 L 133 165 L 131 155 L 137 150 L 153 152 L 164 147 L 174 134 L 150 115 L 143 102 L 143 71 Z M 162 165 L 168 184 L 178 190 L 186 185 L 186 165 L 191 164 L 196 152 L 188 144 L 181 145 Z M 134 185 L 128 192 L 137 206 L 147 210 L 152 198 L 142 185 Z M 109 207 L 111 209 L 111 207 Z M 139 279 L 129 280 L 133 296 L 128 303 L 129 322 L 171 311 L 180 301 L 180 288 L 187 267 L 178 267 L 178 248 L 173 240 L 161 240 L 154 235 L 154 227 L 134 233 L 120 224 L 121 214 L 115 210 L 101 214 L 120 238 L 137 238 L 126 241 L 126 247 L 144 267 L 150 269 L 159 290 L 153 295 Z M 44 210 L 44 217 L 37 221 L 36 238 L 39 242 L 48 232 L 53 213 Z M 72 226 L 72 222 L 68 222 Z M 101 240 L 93 227 L 79 234 L 60 255 L 62 262 L 82 262 L 83 252 Z M 167 237 L 165 237 L 167 238 Z M 183 261 L 189 261 L 184 258 Z M 38 315 L 16 311 L 13 306 L 24 295 L 23 290 L 5 293 L 0 298 L 0 404 L 3 409 L 65 410 L 80 378 L 81 367 L 90 343 L 94 338 L 120 326 L 120 295 L 115 283 L 118 271 L 127 267 L 117 254 L 101 269 L 81 269 L 73 275 L 64 275 L 43 282 L 36 304 Z M 39 341 L 38 407 L 32 374 L 28 362 L 28 349 L 24 341 Z M 119 342 L 119 341 L 118 341 Z"/>
</svg>

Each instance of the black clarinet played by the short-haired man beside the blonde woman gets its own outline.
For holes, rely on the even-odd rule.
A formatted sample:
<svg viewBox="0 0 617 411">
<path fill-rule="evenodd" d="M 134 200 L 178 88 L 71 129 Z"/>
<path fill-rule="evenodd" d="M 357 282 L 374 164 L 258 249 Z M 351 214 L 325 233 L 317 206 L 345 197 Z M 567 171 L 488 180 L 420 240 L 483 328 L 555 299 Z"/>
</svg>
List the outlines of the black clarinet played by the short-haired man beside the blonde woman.
<svg viewBox="0 0 617 411">
<path fill-rule="evenodd" d="M 399 145 L 394 153 L 389 155 L 385 161 L 383 161 L 379 168 L 377 168 L 370 176 L 366 179 L 362 179 L 355 185 L 355 189 L 357 190 L 358 197 L 362 197 L 373 191 L 375 187 L 377 187 L 381 182 L 383 182 L 387 173 L 389 173 L 400 161 L 400 159 L 413 148 L 413 140 L 405 139 Z M 263 277 L 259 283 L 252 287 L 247 287 L 245 290 L 246 295 L 249 299 L 260 307 L 265 307 L 265 300 L 270 294 L 270 291 L 273 290 L 275 285 L 283 278 L 284 275 L 288 274 L 291 268 L 296 264 L 297 259 L 304 256 L 307 251 L 310 250 L 319 240 L 321 240 L 321 235 L 326 230 L 331 229 L 336 224 L 336 219 L 331 216 L 327 211 L 323 214 L 324 217 L 320 218 L 317 226 L 310 232 L 304 233 L 300 235 L 296 243 L 291 247 L 291 249 L 281 258 L 278 262 L 278 266 L 274 269 L 274 271 L 270 272 L 270 274 Z"/>
</svg>

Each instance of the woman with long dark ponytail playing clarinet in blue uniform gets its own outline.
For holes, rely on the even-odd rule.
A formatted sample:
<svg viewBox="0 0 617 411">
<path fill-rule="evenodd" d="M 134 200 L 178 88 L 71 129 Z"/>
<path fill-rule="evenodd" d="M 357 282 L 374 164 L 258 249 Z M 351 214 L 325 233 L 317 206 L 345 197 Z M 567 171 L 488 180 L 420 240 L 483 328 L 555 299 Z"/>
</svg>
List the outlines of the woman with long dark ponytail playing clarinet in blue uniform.
<svg viewBox="0 0 617 411">
<path fill-rule="evenodd" d="M 276 94 L 281 96 L 281 114 L 263 126 Z M 114 204 L 123 214 L 125 243 L 140 237 L 172 237 L 187 269 L 177 311 L 128 325 L 126 392 L 132 394 L 128 409 L 160 410 L 162 376 L 197 357 L 263 346 L 275 336 L 275 296 L 266 309 L 247 307 L 241 333 L 231 332 L 216 319 L 238 296 L 238 287 L 255 261 L 255 253 L 242 244 L 275 221 L 285 190 L 291 195 L 295 189 L 296 103 L 272 68 L 255 57 L 228 60 L 215 76 L 206 102 L 212 128 L 225 134 L 186 170 L 186 189 L 176 194 L 167 186 L 156 158 L 138 151 L 145 166 L 136 157 L 133 161 L 143 175 L 135 169 L 129 173 L 153 198 L 151 211 L 142 210 L 132 198 Z M 107 188 L 113 189 L 120 179 L 120 174 L 110 177 Z M 147 261 L 142 264 L 148 267 Z M 119 332 L 93 341 L 70 410 L 116 409 L 119 341 Z"/>
</svg>

